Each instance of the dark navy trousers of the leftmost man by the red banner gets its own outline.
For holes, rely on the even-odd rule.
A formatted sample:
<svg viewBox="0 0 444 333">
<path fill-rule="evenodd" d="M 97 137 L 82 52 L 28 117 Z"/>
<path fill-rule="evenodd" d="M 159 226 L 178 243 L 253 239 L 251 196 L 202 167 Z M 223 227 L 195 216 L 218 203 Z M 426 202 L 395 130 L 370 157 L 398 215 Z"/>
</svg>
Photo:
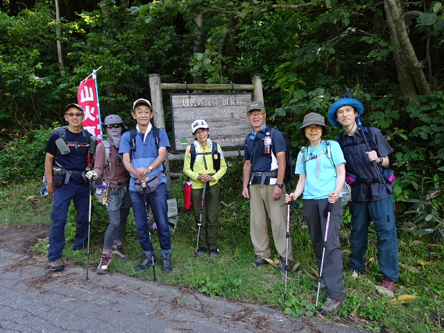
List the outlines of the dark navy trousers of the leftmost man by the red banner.
<svg viewBox="0 0 444 333">
<path fill-rule="evenodd" d="M 87 246 L 88 220 L 89 220 L 89 187 L 83 184 L 63 184 L 56 187 L 54 191 L 53 210 L 51 220 L 53 226 L 49 231 L 48 259 L 55 262 L 62 257 L 65 248 L 65 225 L 67 224 L 69 205 L 71 200 L 77 212 L 76 238 L 74 239 L 74 249 L 81 249 Z"/>
</svg>

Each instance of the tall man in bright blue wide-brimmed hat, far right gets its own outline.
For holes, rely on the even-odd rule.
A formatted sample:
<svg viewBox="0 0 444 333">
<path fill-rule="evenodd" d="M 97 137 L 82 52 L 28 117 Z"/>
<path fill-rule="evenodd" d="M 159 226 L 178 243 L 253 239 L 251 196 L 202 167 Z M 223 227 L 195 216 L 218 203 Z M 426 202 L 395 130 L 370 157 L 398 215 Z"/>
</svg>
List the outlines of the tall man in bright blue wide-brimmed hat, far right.
<svg viewBox="0 0 444 333">
<path fill-rule="evenodd" d="M 362 127 L 359 116 L 364 105 L 357 99 L 340 99 L 330 106 L 328 120 L 343 128 L 336 138 L 345 161 L 345 180 L 352 187 L 352 232 L 349 273 L 364 273 L 368 248 L 368 227 L 375 222 L 377 256 L 382 271 L 382 287 L 395 290 L 399 278 L 398 237 L 393 208 L 393 173 L 388 170 L 388 154 L 393 149 L 377 128 Z M 370 148 L 369 148 L 370 147 Z"/>
</svg>

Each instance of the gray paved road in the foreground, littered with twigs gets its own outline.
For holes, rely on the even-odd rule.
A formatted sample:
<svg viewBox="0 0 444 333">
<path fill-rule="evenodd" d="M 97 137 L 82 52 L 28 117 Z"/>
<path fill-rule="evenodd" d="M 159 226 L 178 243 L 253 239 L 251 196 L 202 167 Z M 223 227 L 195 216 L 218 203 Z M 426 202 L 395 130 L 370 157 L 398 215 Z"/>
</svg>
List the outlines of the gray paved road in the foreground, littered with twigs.
<svg viewBox="0 0 444 333">
<path fill-rule="evenodd" d="M 0 250 L 0 332 L 361 332 L 117 273 Z"/>
</svg>

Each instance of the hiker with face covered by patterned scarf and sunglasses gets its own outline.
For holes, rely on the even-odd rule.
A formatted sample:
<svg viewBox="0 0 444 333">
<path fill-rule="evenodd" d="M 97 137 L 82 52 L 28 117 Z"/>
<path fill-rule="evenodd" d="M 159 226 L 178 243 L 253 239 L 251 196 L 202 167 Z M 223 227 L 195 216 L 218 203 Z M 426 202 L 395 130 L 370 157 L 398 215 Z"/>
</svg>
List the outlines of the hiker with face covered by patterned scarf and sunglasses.
<svg viewBox="0 0 444 333">
<path fill-rule="evenodd" d="M 130 173 L 125 169 L 122 155 L 119 154 L 122 134 L 128 131 L 128 128 L 117 114 L 110 114 L 105 117 L 103 127 L 107 139 L 97 145 L 94 171 L 89 171 L 87 175 L 92 175 L 94 179 L 103 178 L 103 185 L 107 187 L 105 193 L 108 194 L 105 204 L 110 224 L 105 232 L 101 261 L 96 270 L 98 274 L 108 272 L 112 257 L 128 259 L 128 255 L 123 250 L 122 242 L 131 207 L 131 198 L 128 191 Z"/>
</svg>

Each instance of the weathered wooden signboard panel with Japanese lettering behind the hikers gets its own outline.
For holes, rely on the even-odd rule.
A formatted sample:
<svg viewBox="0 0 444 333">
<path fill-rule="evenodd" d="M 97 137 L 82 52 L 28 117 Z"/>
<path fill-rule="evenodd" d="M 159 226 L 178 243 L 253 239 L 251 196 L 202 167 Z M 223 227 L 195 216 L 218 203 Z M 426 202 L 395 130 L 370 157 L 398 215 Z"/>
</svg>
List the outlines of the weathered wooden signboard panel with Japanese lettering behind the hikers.
<svg viewBox="0 0 444 333">
<path fill-rule="evenodd" d="M 185 151 L 194 142 L 191 123 L 196 119 L 207 121 L 210 138 L 222 148 L 244 148 L 251 131 L 246 114 L 252 93 L 170 94 L 170 99 L 175 151 Z"/>
</svg>

